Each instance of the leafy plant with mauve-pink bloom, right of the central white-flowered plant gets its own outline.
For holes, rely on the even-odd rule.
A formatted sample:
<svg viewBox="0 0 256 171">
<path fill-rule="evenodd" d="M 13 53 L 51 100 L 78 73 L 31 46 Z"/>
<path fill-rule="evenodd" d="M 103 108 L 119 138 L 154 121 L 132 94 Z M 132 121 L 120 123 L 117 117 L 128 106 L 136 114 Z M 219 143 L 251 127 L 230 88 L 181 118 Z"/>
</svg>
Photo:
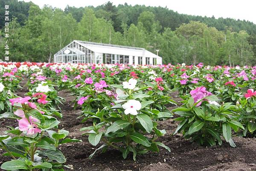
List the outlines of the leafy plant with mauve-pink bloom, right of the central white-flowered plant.
<svg viewBox="0 0 256 171">
<path fill-rule="evenodd" d="M 239 128 L 244 129 L 238 121 L 238 114 L 233 110 L 235 105 L 223 103 L 219 105 L 215 95 L 206 91 L 205 87 L 198 87 L 190 92 L 188 100 L 183 101 L 183 105 L 174 110 L 180 117 L 175 119 L 180 121 L 177 132 L 182 132 L 184 138 L 197 142 L 199 145 L 219 145 L 222 144 L 221 136 L 236 147 L 231 137 L 232 129 L 238 132 Z"/>
</svg>

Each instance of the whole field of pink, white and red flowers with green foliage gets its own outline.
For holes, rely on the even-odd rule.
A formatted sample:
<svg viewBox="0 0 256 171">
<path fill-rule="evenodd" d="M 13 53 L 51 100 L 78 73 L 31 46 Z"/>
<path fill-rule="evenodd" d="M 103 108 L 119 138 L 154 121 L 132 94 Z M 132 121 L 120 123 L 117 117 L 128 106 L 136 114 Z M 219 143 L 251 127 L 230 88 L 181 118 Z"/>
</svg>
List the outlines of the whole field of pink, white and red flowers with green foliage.
<svg viewBox="0 0 256 171">
<path fill-rule="evenodd" d="M 256 67 L 24 62 L 0 75 L 1 170 L 256 170 Z"/>
</svg>

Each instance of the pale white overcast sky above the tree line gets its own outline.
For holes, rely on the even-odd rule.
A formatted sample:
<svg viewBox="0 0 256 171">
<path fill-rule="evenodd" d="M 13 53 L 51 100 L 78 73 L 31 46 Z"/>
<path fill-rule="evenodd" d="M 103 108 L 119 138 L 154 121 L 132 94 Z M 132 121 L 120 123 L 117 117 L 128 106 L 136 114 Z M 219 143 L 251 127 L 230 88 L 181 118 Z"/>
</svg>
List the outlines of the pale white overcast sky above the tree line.
<svg viewBox="0 0 256 171">
<path fill-rule="evenodd" d="M 32 1 L 40 7 L 48 4 L 53 7 L 64 9 L 67 5 L 75 7 L 99 6 L 108 0 L 24 0 Z M 162 6 L 177 11 L 180 14 L 201 15 L 215 18 L 234 18 L 249 20 L 256 24 L 256 0 L 109 0 L 114 5 L 145 5 Z"/>
</svg>

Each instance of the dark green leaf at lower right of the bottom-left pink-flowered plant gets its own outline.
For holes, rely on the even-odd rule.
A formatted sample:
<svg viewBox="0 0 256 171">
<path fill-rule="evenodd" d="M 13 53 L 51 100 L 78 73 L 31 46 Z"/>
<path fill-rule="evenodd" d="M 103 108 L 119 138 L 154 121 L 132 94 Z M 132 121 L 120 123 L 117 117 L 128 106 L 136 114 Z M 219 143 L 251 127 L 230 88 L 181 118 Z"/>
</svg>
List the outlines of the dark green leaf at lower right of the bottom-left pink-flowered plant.
<svg viewBox="0 0 256 171">
<path fill-rule="evenodd" d="M 47 156 L 49 159 L 55 160 L 59 163 L 66 162 L 66 158 L 64 157 L 64 155 L 59 150 L 56 150 L 56 151 L 54 151 L 54 150 L 39 151 L 38 153 L 43 155 L 43 156 Z"/>
</svg>

